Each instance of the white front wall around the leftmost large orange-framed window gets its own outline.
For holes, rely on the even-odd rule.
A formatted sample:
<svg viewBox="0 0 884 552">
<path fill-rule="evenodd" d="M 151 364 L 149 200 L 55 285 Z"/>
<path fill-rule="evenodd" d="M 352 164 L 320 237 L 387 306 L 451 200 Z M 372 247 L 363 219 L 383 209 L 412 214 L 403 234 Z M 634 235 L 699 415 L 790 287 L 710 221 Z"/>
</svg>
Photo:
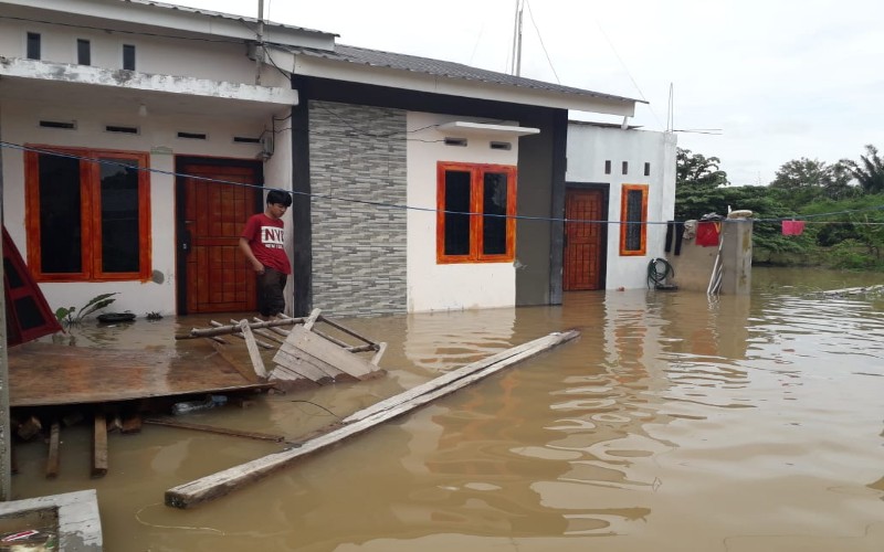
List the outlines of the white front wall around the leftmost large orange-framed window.
<svg viewBox="0 0 884 552">
<path fill-rule="evenodd" d="M 281 112 L 278 116 L 284 116 Z M 76 130 L 41 128 L 41 118 L 77 121 Z M 137 126 L 139 135 L 104 131 L 106 124 Z M 42 283 L 40 288 L 50 307 L 82 307 L 98 294 L 118 291 L 115 311 L 129 310 L 138 316 L 148 311 L 168 315 L 176 310 L 175 235 L 175 156 L 210 156 L 254 159 L 260 146 L 233 142 L 233 136 L 256 137 L 263 120 L 217 116 L 139 117 L 125 112 L 76 108 L 61 104 L 45 105 L 7 100 L 0 104 L 0 138 L 12 144 L 90 147 L 150 152 L 150 168 L 160 171 L 150 177 L 150 216 L 152 227 L 152 270 L 150 282 Z M 208 134 L 207 140 L 177 137 L 182 128 Z M 287 138 L 286 138 L 287 139 Z M 280 145 L 267 163 L 267 182 L 291 189 L 291 147 Z M 18 149 L 3 151 L 3 216 L 7 230 L 20 253 L 27 255 L 24 234 L 24 166 Z M 286 176 L 286 171 L 290 173 Z M 271 180 L 272 179 L 272 180 Z M 291 221 L 288 222 L 291 229 Z"/>
</svg>

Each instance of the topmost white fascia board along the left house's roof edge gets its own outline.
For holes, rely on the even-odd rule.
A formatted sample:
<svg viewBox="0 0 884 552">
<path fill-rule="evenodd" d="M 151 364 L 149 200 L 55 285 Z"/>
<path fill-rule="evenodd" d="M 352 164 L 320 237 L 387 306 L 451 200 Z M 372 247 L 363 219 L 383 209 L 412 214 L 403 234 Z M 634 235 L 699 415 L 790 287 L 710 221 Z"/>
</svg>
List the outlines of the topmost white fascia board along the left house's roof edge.
<svg viewBox="0 0 884 552">
<path fill-rule="evenodd" d="M 149 3 L 120 0 L 2 0 L 3 4 L 59 12 L 60 15 L 82 15 L 106 21 L 169 29 L 183 33 L 243 41 L 256 40 L 257 23 L 232 15 L 201 13 L 198 10 L 173 9 Z M 320 31 L 295 29 L 271 22 L 264 23 L 264 42 L 292 46 L 334 50 L 335 35 Z"/>
</svg>

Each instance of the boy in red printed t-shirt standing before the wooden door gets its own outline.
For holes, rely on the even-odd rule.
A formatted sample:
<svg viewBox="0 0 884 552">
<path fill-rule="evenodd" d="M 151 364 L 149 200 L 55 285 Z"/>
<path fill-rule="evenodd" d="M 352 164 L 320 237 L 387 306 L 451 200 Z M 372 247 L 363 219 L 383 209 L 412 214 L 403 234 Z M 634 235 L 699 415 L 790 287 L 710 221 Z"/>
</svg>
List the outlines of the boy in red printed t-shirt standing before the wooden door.
<svg viewBox="0 0 884 552">
<path fill-rule="evenodd" d="M 285 311 L 283 289 L 292 274 L 292 264 L 285 254 L 282 216 L 291 205 L 290 194 L 271 190 L 264 212 L 250 216 L 240 235 L 240 250 L 257 274 L 259 311 L 269 318 Z"/>
</svg>

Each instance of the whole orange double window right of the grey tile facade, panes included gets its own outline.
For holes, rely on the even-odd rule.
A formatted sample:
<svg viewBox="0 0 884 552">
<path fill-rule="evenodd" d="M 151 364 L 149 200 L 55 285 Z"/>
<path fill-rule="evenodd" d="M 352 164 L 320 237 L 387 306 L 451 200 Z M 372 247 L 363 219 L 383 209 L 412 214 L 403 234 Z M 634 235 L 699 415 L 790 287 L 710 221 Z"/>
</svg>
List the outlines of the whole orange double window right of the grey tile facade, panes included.
<svg viewBox="0 0 884 552">
<path fill-rule="evenodd" d="M 515 167 L 440 162 L 436 208 L 438 263 L 515 258 Z"/>
</svg>

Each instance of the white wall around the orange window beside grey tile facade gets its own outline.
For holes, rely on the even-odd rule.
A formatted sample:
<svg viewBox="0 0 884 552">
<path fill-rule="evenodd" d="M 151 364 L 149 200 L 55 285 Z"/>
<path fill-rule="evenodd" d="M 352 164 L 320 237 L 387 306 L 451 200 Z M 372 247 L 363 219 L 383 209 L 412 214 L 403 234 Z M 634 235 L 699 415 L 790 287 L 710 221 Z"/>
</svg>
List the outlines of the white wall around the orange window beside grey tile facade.
<svg viewBox="0 0 884 552">
<path fill-rule="evenodd" d="M 506 139 L 513 144 L 508 151 L 491 149 L 490 142 L 502 138 L 482 135 L 470 135 L 466 147 L 445 146 L 445 135 L 435 126 L 454 120 L 487 123 L 428 113 L 408 114 L 408 204 L 427 210 L 408 212 L 410 312 L 512 307 L 516 302 L 513 263 L 436 264 L 436 163 L 518 164 L 515 137 Z"/>
</svg>

